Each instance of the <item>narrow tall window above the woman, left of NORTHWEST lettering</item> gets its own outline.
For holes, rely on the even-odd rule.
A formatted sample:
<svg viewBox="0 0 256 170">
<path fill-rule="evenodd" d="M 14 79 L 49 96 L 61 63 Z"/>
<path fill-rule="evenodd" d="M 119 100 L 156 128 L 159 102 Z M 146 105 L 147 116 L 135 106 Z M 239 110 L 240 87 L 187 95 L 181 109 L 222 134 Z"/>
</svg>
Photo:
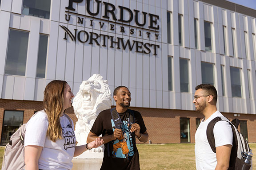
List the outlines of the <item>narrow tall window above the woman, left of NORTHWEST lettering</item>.
<svg viewBox="0 0 256 170">
<path fill-rule="evenodd" d="M 47 44 L 48 44 L 48 36 L 47 35 L 40 35 L 36 77 L 41 77 L 41 78 L 45 77 Z"/>
</svg>

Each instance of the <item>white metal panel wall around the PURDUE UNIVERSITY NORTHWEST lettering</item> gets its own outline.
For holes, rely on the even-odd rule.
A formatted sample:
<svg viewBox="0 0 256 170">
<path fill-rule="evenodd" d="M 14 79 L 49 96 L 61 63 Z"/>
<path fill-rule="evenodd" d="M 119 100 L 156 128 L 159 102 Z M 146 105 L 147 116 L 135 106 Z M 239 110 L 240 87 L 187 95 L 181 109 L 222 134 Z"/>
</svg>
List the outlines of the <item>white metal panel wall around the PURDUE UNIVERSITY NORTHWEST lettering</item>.
<svg viewBox="0 0 256 170">
<path fill-rule="evenodd" d="M 92 11 L 96 10 L 96 2 L 91 1 Z M 226 95 L 220 97 L 219 108 L 224 112 L 241 112 L 252 113 L 255 110 L 255 99 L 248 99 L 247 87 L 247 68 L 251 69 L 252 77 L 255 77 L 255 61 L 247 61 L 245 58 L 244 31 L 248 32 L 248 44 L 250 46 L 249 54 L 252 56 L 252 33 L 255 33 L 255 19 L 247 17 L 235 12 L 230 12 L 210 4 L 193 0 L 103 0 L 116 6 L 116 16 L 120 15 L 118 6 L 124 6 L 131 10 L 136 9 L 140 12 L 147 12 L 159 15 L 160 32 L 159 37 L 151 32 L 150 39 L 147 38 L 146 31 L 143 31 L 143 39 L 139 35 L 142 29 L 135 28 L 135 34 L 131 34 L 129 29 L 133 27 L 124 26 L 125 33 L 120 32 L 120 25 L 115 24 L 115 30 L 110 30 L 110 24 L 105 22 L 101 28 L 99 19 L 104 13 L 104 7 L 100 8 L 100 13 L 95 19 L 85 18 L 84 23 L 77 23 L 78 17 L 72 15 L 69 22 L 66 21 L 64 11 L 68 4 L 68 0 L 52 0 L 50 19 L 40 19 L 27 15 L 20 15 L 22 9 L 22 0 L 2 0 L 0 7 L 0 21 L 4 24 L 0 25 L 0 34 L 6 41 L 0 43 L 0 88 L 1 97 L 5 99 L 18 100 L 42 100 L 43 90 L 48 82 L 54 79 L 66 80 L 72 86 L 73 92 L 76 93 L 79 89 L 80 82 L 87 80 L 93 73 L 100 73 L 113 90 L 118 85 L 127 86 L 132 92 L 132 106 L 147 107 L 147 108 L 171 108 L 193 110 L 192 96 L 196 85 L 202 82 L 201 80 L 201 62 L 210 62 L 215 66 L 215 84 L 216 88 L 221 93 L 222 86 L 220 80 L 220 64 L 224 64 L 225 73 L 225 91 Z M 81 3 L 74 3 L 76 12 L 85 13 L 84 0 Z M 4 10 L 4 11 L 3 11 Z M 172 44 L 167 44 L 167 27 L 166 27 L 166 12 L 172 12 L 171 15 L 171 31 Z M 11 12 L 14 12 L 11 14 Z M 178 14 L 183 15 L 183 46 L 179 46 L 178 38 Z M 86 15 L 89 15 L 88 12 Z M 142 15 L 140 15 L 142 16 Z M 128 16 L 125 15 L 125 19 Z M 198 19 L 198 50 L 195 48 L 194 40 L 194 18 Z M 93 26 L 91 26 L 93 20 Z M 113 21 L 112 17 L 110 17 Z M 212 47 L 213 52 L 205 52 L 204 42 L 204 21 L 212 23 Z M 142 22 L 142 17 L 139 18 Z M 97 34 L 130 39 L 141 42 L 157 44 L 160 48 L 157 50 L 157 55 L 136 53 L 136 49 L 132 51 L 126 49 L 110 48 L 110 40 L 108 46 L 98 46 L 94 42 L 93 45 L 81 43 L 76 40 L 76 43 L 69 37 L 68 40 L 63 40 L 65 31 L 59 26 L 63 25 L 74 33 L 84 30 Z M 136 26 L 133 21 L 131 26 Z M 227 27 L 227 54 L 232 54 L 232 32 L 231 28 L 235 28 L 235 43 L 236 43 L 236 58 L 230 58 L 224 55 L 223 31 L 222 27 Z M 84 27 L 85 26 L 85 27 Z M 21 29 L 30 32 L 27 56 L 27 71 L 25 77 L 19 76 L 4 76 L 4 63 L 7 52 L 8 30 L 9 27 Z M 144 26 L 144 28 L 147 28 Z M 39 33 L 49 36 L 48 56 L 46 65 L 46 78 L 36 78 L 36 62 Z M 100 40 L 103 43 L 102 39 Z M 221 54 L 221 55 L 220 55 Z M 173 70 L 173 91 L 168 90 L 168 59 L 172 56 Z M 189 59 L 189 93 L 180 93 L 180 66 L 179 59 Z M 223 58 L 223 59 L 221 59 Z M 246 62 L 245 62 L 246 61 Z M 230 66 L 241 68 L 241 77 L 244 81 L 243 95 L 241 99 L 232 98 L 231 82 L 230 82 Z M 3 83 L 2 83 L 3 82 Z M 256 80 L 252 79 L 252 86 Z M 18 84 L 22 85 L 22 91 L 18 92 Z M 32 91 L 32 92 L 31 92 Z M 255 96 L 255 91 L 252 91 Z M 182 103 L 183 102 L 183 103 Z M 182 103 L 182 104 L 181 104 Z M 113 101 L 112 104 L 115 104 Z M 234 106 L 234 107 L 233 107 Z M 248 108 L 248 109 L 247 109 Z"/>
</svg>

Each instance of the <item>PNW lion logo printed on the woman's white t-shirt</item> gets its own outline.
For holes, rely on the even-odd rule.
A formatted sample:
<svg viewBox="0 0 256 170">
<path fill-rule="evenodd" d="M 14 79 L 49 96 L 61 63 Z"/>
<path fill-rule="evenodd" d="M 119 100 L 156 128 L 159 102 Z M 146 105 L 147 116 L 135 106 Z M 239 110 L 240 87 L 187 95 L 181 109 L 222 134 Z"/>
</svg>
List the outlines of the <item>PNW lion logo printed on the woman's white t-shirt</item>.
<svg viewBox="0 0 256 170">
<path fill-rule="evenodd" d="M 71 124 L 68 124 L 68 126 L 61 129 L 62 129 L 63 138 L 65 140 L 64 149 L 67 150 L 68 148 L 75 147 L 76 136 Z"/>
</svg>

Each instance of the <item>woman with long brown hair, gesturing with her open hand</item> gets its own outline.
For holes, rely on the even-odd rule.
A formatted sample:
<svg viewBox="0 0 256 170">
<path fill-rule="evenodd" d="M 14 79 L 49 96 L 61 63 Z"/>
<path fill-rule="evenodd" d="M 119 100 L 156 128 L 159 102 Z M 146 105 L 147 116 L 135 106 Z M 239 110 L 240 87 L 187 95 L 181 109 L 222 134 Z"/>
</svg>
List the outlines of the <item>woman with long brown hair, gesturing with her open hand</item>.
<svg viewBox="0 0 256 170">
<path fill-rule="evenodd" d="M 25 170 L 71 170 L 72 158 L 99 147 L 103 140 L 76 146 L 74 124 L 64 113 L 74 94 L 66 81 L 51 81 L 44 90 L 44 110 L 27 123 L 24 139 Z"/>
</svg>

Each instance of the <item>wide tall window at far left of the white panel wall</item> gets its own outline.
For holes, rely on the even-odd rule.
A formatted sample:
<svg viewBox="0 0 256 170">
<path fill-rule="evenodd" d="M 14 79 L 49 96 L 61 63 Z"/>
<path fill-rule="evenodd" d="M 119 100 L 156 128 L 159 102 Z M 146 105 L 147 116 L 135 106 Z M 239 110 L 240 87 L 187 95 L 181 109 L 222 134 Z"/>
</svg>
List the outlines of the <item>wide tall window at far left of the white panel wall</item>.
<svg viewBox="0 0 256 170">
<path fill-rule="evenodd" d="M 5 74 L 25 76 L 28 32 L 10 29 Z"/>
</svg>

